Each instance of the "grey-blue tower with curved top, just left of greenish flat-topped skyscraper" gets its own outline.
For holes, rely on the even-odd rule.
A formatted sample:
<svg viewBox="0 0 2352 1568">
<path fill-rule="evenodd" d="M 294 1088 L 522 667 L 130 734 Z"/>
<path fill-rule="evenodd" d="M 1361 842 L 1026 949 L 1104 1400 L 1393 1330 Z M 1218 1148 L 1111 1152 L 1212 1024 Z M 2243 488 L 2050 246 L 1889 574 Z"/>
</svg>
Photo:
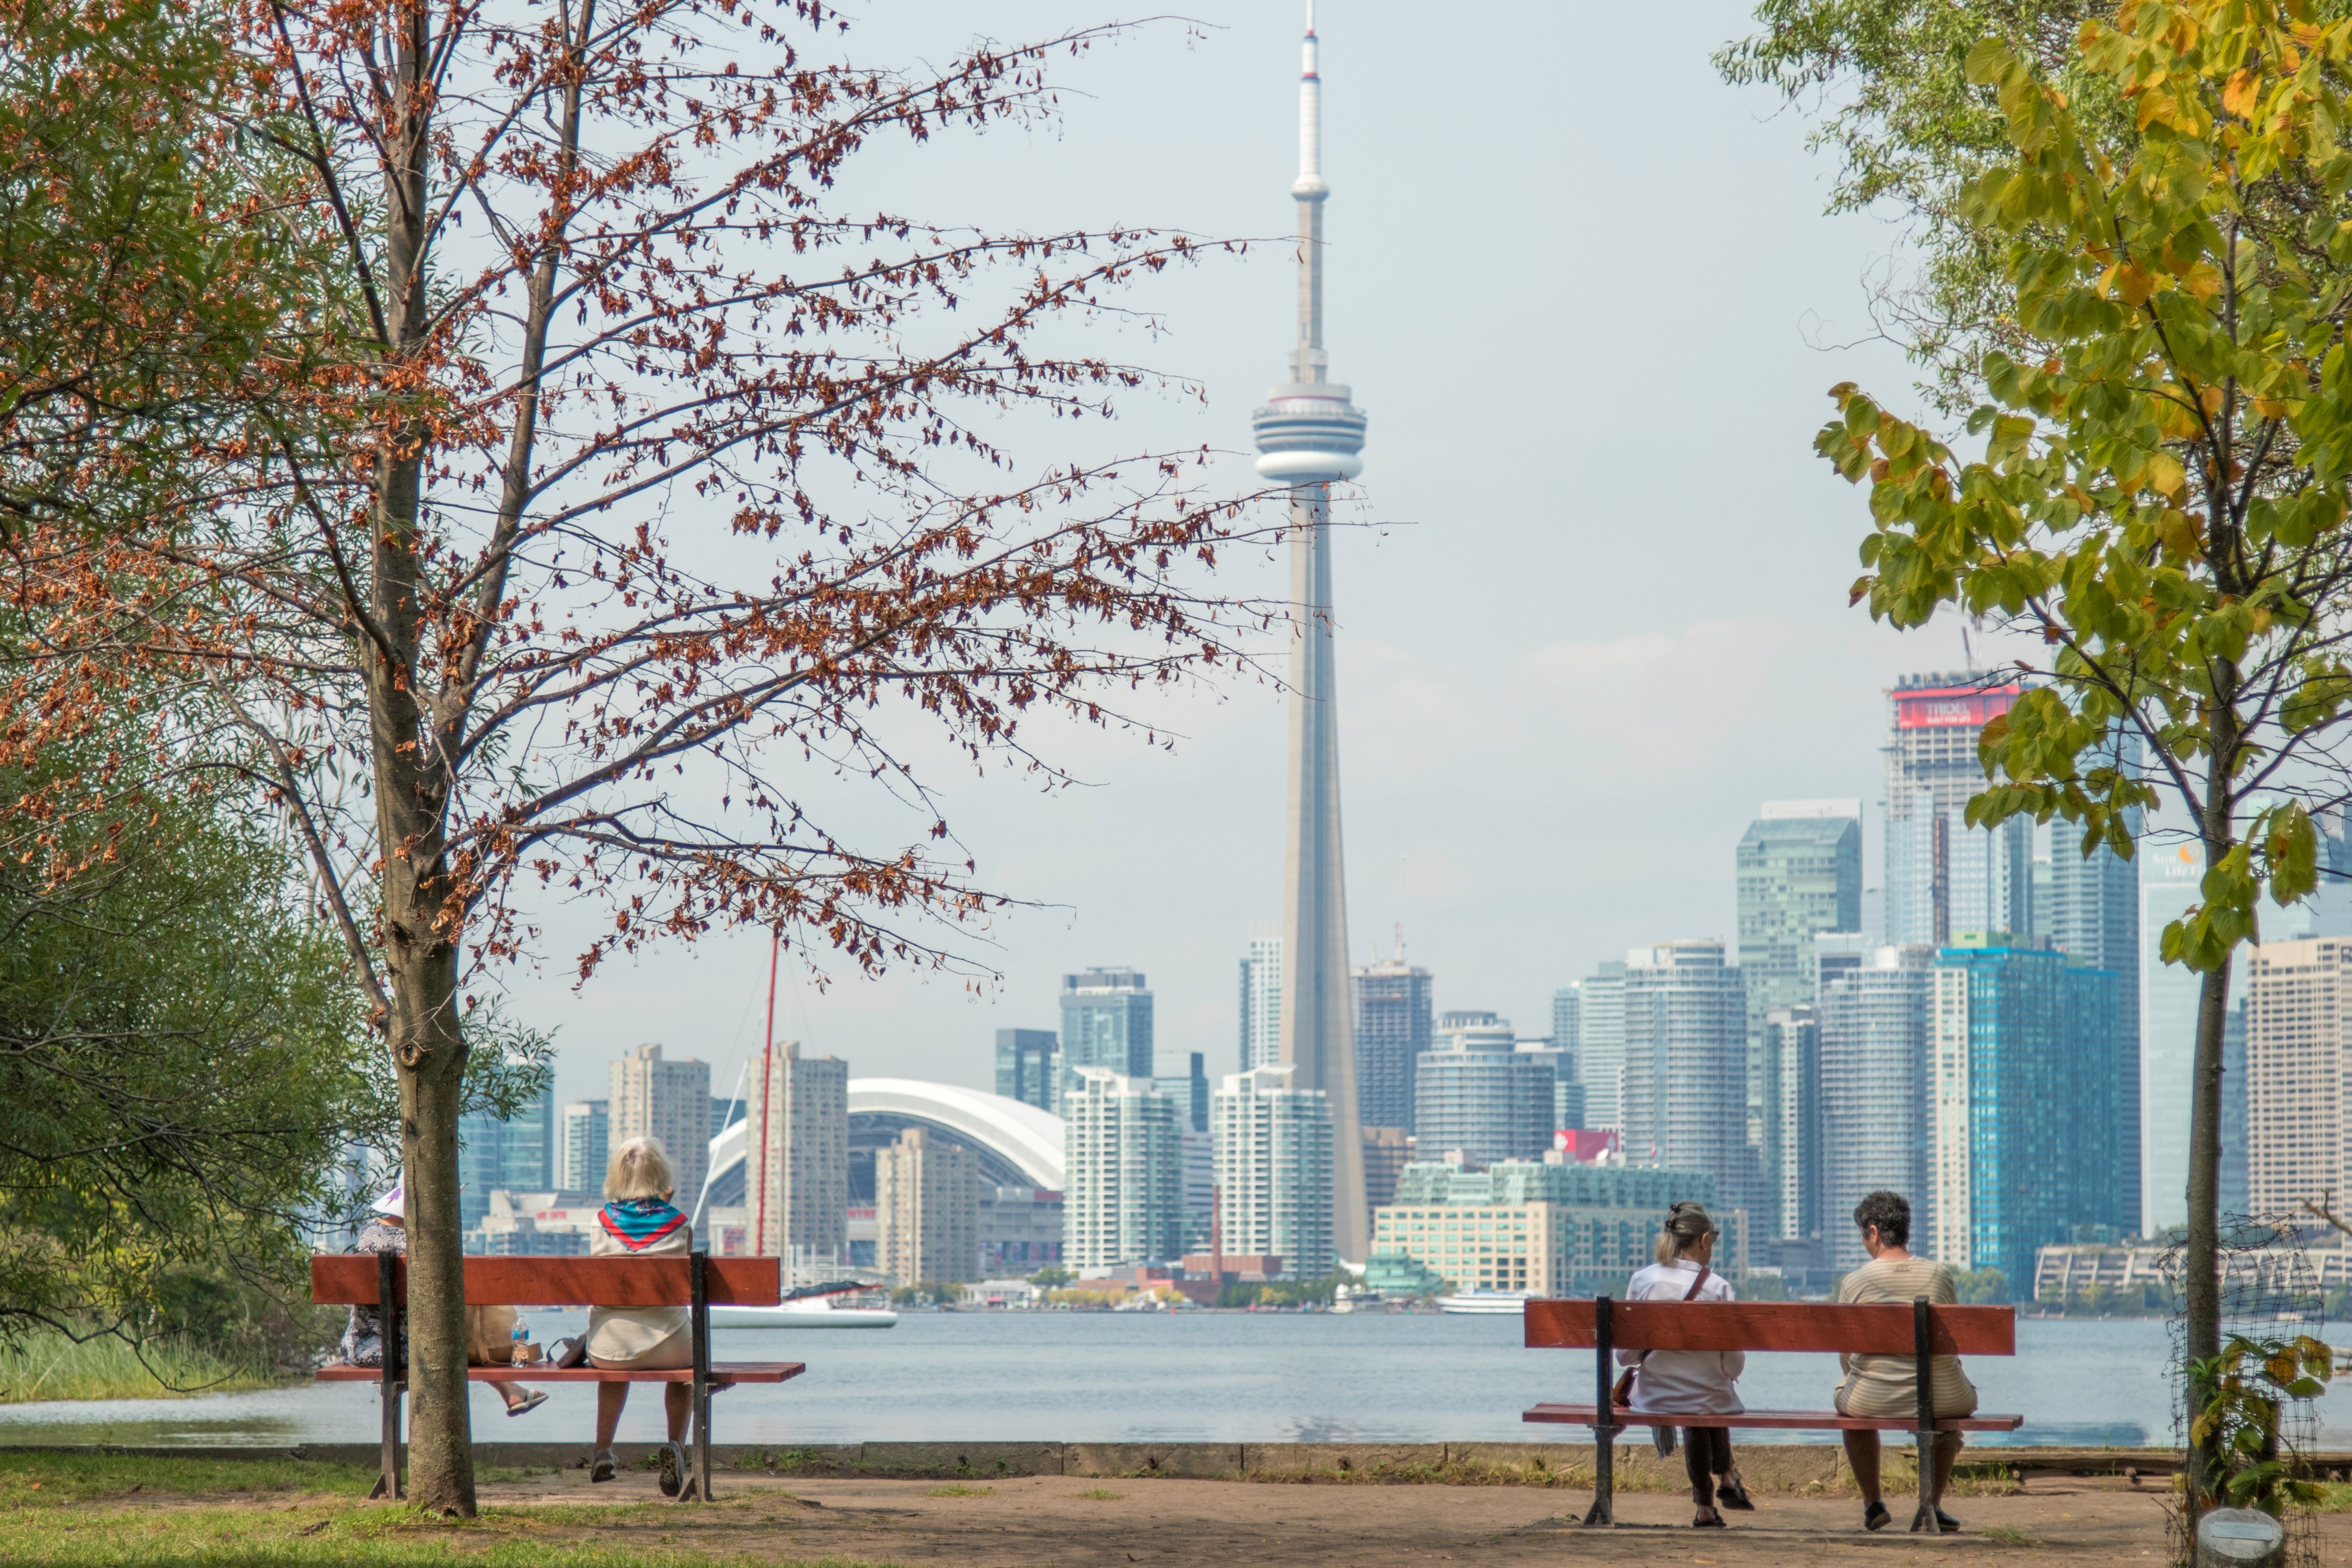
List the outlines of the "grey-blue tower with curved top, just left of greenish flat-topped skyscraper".
<svg viewBox="0 0 2352 1568">
<path fill-rule="evenodd" d="M 1625 1164 L 1705 1171 L 1755 1213 L 1748 1145 L 1748 999 L 1719 940 L 1625 954 Z M 1421 1147 L 1432 1147 L 1428 1138 Z"/>
</svg>

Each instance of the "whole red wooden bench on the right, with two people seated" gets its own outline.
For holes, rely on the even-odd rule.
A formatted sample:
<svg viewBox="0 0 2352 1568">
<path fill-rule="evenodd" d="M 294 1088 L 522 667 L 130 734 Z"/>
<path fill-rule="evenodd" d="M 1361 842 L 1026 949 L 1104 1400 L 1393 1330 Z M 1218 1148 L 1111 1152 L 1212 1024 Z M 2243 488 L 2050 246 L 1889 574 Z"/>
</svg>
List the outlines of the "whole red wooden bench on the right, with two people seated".
<svg viewBox="0 0 2352 1568">
<path fill-rule="evenodd" d="M 1936 1533 L 1933 1432 L 2016 1432 L 2023 1415 L 1945 1415 L 1933 1410 L 1931 1380 L 1919 1378 L 1919 1413 L 1912 1418 L 1839 1415 L 1837 1410 L 1748 1410 L 1743 1415 L 1668 1415 L 1611 1410 L 1618 1349 L 1806 1349 L 1863 1356 L 2013 1356 L 2018 1314 L 2011 1307 L 1936 1307 L 1870 1302 L 1526 1302 L 1529 1349 L 1595 1352 L 1595 1403 L 1538 1403 L 1522 1420 L 1592 1427 L 1590 1526 L 1616 1523 L 1616 1434 L 1625 1427 L 1759 1427 L 1766 1432 L 1915 1432 L 1919 1439 L 1919 1512 L 1912 1530 Z"/>
</svg>

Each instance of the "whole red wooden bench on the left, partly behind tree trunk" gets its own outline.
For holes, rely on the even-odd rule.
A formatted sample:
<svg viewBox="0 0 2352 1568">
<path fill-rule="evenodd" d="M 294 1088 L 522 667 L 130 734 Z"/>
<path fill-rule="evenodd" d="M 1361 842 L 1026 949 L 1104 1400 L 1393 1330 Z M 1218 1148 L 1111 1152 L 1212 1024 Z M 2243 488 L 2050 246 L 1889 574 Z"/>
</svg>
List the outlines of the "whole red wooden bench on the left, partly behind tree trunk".
<svg viewBox="0 0 2352 1568">
<path fill-rule="evenodd" d="M 604 1371 L 597 1366 L 468 1366 L 473 1382 L 691 1382 L 694 1472 L 684 1497 L 710 1500 L 710 1394 L 736 1382 L 783 1382 L 807 1371 L 800 1361 L 710 1363 L 710 1305 L 774 1307 L 781 1300 L 774 1258 L 468 1258 L 466 1302 L 475 1307 L 687 1307 L 694 1366 L 675 1371 Z M 329 1253 L 310 1258 L 310 1300 L 322 1307 L 379 1307 L 383 1366 L 322 1366 L 325 1382 L 376 1382 L 383 1389 L 383 1474 L 376 1497 L 400 1495 L 400 1309 L 409 1298 L 409 1262 L 395 1253 Z"/>
</svg>

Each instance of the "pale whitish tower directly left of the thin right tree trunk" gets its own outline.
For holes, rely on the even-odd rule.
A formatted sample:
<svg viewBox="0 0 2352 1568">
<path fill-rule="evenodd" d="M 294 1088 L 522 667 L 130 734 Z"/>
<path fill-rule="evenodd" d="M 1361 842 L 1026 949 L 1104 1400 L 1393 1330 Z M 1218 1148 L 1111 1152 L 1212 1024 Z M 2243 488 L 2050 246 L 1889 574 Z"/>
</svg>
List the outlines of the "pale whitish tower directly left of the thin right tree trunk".
<svg viewBox="0 0 2352 1568">
<path fill-rule="evenodd" d="M 2164 961 L 2164 926 L 2204 900 L 2204 846 L 2140 846 L 2140 1229 L 2190 1222 L 2190 1086 L 2204 976 Z M 2265 924 L 2270 910 L 2263 910 Z M 2281 910 L 2284 914 L 2284 910 Z M 2223 1079 L 2227 1086 L 2227 1079 Z"/>
</svg>

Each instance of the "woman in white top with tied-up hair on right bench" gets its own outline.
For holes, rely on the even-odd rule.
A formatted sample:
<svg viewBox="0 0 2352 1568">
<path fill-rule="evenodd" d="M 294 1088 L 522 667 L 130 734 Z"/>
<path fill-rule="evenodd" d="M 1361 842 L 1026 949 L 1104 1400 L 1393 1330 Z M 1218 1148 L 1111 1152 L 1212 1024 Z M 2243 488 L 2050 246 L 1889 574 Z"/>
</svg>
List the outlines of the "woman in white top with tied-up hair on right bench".
<svg viewBox="0 0 2352 1568">
<path fill-rule="evenodd" d="M 1668 1208 L 1658 1232 L 1658 1262 L 1625 1281 L 1625 1300 L 1733 1300 L 1731 1281 L 1715 1272 L 1717 1234 L 1715 1220 L 1698 1204 Z M 1632 1368 L 1628 1403 L 1635 1415 L 1738 1415 L 1748 1408 L 1733 1387 L 1748 1371 L 1748 1356 L 1736 1349 L 1621 1349 L 1618 1366 Z M 1672 1427 L 1653 1427 L 1653 1434 L 1661 1455 L 1675 1453 Z M 1729 1509 L 1755 1507 L 1731 1462 L 1731 1427 L 1684 1427 L 1682 1467 L 1691 1476 L 1691 1502 L 1698 1505 L 1693 1530 L 1724 1528 L 1717 1502 Z"/>
</svg>

